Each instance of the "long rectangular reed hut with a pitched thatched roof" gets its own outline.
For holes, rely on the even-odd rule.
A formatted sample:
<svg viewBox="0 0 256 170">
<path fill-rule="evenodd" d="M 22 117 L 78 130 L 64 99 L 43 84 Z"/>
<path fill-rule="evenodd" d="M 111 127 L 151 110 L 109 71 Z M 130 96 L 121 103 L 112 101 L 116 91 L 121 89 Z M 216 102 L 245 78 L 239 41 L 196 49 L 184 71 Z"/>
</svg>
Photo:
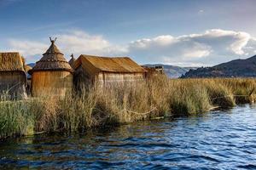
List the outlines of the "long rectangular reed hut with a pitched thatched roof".
<svg viewBox="0 0 256 170">
<path fill-rule="evenodd" d="M 107 86 L 116 83 L 137 82 L 145 79 L 146 70 L 128 57 L 99 57 L 80 55 L 73 63 L 74 79 L 80 83 L 99 83 Z"/>
</svg>

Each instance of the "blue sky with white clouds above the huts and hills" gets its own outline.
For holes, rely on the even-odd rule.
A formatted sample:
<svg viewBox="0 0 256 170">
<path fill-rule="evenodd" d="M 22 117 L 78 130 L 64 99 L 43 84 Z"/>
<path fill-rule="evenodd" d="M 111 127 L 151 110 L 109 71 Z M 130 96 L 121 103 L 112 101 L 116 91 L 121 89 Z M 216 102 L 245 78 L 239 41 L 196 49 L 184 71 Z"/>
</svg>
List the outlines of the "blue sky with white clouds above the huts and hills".
<svg viewBox="0 0 256 170">
<path fill-rule="evenodd" d="M 256 54 L 255 0 L 0 0 L 0 51 L 49 48 L 137 63 L 212 66 Z"/>
</svg>

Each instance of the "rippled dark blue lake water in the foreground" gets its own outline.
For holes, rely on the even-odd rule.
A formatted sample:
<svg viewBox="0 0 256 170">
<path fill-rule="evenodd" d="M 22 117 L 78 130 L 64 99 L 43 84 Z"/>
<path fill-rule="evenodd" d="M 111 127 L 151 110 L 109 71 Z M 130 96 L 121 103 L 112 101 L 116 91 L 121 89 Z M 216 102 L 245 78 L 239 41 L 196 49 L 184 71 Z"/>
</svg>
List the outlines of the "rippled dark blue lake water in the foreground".
<svg viewBox="0 0 256 170">
<path fill-rule="evenodd" d="M 0 169 L 256 169 L 256 106 L 0 143 Z"/>
</svg>

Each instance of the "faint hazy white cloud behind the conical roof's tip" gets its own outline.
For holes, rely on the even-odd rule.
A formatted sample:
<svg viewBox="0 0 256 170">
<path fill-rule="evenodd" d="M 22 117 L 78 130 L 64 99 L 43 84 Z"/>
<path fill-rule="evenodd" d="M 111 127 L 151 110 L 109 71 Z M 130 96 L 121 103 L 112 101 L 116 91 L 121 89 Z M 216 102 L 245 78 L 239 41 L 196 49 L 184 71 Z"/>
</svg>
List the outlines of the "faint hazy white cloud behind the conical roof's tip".
<svg viewBox="0 0 256 170">
<path fill-rule="evenodd" d="M 56 45 L 66 55 L 95 54 L 95 55 L 119 55 L 125 54 L 126 48 L 113 45 L 99 35 L 89 35 L 84 31 L 68 31 L 64 34 L 55 35 Z M 36 42 L 30 40 L 10 39 L 9 46 L 12 51 L 19 51 L 26 56 L 27 61 L 36 61 L 49 48 L 46 41 Z"/>
</svg>

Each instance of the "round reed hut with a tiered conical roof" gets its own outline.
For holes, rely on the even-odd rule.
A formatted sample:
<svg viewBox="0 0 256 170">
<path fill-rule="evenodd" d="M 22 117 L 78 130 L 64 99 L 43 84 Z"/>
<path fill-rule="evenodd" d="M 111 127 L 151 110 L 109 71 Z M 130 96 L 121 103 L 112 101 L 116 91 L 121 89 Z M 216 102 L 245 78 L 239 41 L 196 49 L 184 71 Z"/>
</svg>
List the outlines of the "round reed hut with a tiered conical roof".
<svg viewBox="0 0 256 170">
<path fill-rule="evenodd" d="M 73 69 L 50 38 L 51 45 L 36 65 L 29 71 L 32 75 L 32 96 L 59 96 L 70 93 L 73 88 Z"/>
</svg>

